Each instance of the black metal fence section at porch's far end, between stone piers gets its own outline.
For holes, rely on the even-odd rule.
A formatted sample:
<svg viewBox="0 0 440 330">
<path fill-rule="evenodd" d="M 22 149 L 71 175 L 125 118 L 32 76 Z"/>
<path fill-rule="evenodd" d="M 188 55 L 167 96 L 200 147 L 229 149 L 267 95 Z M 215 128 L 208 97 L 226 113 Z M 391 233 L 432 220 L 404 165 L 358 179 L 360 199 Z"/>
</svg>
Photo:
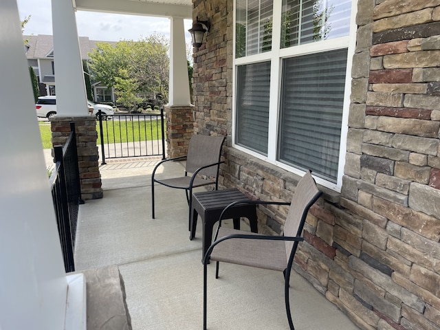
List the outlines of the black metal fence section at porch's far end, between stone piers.
<svg viewBox="0 0 440 330">
<path fill-rule="evenodd" d="M 165 159 L 164 109 L 160 113 L 123 113 L 111 117 L 99 111 L 102 164 L 107 158 L 162 155 Z"/>
</svg>

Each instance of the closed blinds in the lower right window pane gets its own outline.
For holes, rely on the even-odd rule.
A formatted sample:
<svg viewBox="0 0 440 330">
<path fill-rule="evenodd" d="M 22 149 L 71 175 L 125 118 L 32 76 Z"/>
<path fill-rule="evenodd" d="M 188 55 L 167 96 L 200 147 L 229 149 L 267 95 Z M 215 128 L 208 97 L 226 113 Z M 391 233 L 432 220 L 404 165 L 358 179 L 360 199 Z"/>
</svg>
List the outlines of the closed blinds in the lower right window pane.
<svg viewBox="0 0 440 330">
<path fill-rule="evenodd" d="M 283 61 L 278 158 L 336 182 L 347 49 Z"/>
</svg>

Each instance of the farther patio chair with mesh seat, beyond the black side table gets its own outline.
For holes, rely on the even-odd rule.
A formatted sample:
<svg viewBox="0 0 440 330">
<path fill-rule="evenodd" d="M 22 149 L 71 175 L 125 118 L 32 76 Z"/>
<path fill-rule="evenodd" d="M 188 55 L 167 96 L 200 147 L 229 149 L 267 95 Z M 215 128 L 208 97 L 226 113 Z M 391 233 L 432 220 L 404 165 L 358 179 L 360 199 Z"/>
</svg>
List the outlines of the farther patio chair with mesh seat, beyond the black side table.
<svg viewBox="0 0 440 330">
<path fill-rule="evenodd" d="M 224 163 L 220 162 L 221 148 L 224 141 L 224 136 L 192 135 L 188 145 L 188 153 L 186 155 L 164 159 L 155 166 L 153 174 L 151 175 L 151 207 L 153 219 L 155 218 L 155 183 L 170 188 L 184 189 L 189 206 L 188 230 L 191 230 L 192 188 L 207 186 L 210 184 L 215 185 L 215 190 L 219 188 L 219 167 L 221 163 Z M 184 176 L 173 177 L 170 179 L 155 178 L 157 168 L 164 164 L 164 162 L 184 158 L 186 158 Z M 188 175 L 188 173 L 192 173 L 192 175 Z M 203 175 L 203 177 L 201 177 L 201 175 Z"/>
</svg>

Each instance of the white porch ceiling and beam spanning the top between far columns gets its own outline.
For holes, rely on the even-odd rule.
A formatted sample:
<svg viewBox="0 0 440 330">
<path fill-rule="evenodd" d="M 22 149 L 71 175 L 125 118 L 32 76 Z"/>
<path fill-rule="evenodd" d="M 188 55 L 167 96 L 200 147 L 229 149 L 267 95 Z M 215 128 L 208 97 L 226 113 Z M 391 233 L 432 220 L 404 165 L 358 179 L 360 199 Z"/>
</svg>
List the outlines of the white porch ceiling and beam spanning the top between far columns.
<svg viewBox="0 0 440 330">
<path fill-rule="evenodd" d="M 192 19 L 192 0 L 72 0 L 76 10 Z"/>
</svg>

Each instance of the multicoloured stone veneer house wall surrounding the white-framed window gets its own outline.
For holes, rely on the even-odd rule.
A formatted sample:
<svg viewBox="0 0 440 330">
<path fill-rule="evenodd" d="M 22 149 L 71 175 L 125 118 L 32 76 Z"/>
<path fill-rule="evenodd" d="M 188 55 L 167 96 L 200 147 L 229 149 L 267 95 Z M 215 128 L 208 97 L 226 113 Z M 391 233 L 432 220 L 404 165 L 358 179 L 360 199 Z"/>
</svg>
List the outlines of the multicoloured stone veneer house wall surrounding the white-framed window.
<svg viewBox="0 0 440 330">
<path fill-rule="evenodd" d="M 214 23 L 195 52 L 197 130 L 230 131 L 232 3 L 193 3 Z M 342 192 L 311 208 L 294 267 L 361 329 L 438 330 L 440 0 L 359 0 L 356 23 Z M 225 160 L 222 186 L 252 198 L 289 200 L 299 179 Z M 286 212 L 261 208 L 259 231 L 281 233 Z"/>
</svg>

